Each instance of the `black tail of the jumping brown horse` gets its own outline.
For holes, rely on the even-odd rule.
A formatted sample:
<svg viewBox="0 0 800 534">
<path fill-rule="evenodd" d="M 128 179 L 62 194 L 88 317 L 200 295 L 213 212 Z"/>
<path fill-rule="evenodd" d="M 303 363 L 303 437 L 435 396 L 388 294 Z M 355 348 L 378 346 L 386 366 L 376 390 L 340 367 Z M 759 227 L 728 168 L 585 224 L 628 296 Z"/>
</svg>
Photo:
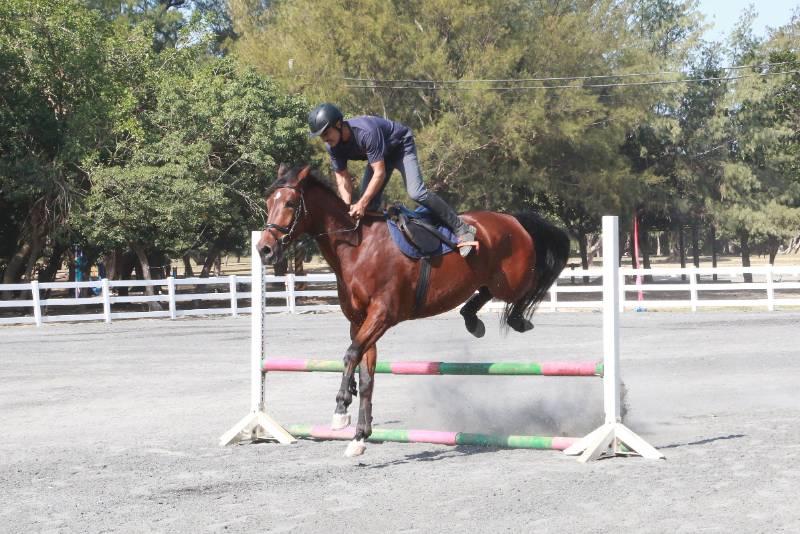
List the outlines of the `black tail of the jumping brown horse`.
<svg viewBox="0 0 800 534">
<path fill-rule="evenodd" d="M 569 236 L 561 228 L 549 223 L 534 212 L 516 213 L 514 217 L 533 238 L 536 250 L 536 280 L 534 286 L 521 299 L 510 302 L 503 312 L 503 324 L 507 323 L 511 309 L 530 319 L 536 306 L 556 281 L 569 258 Z"/>
</svg>

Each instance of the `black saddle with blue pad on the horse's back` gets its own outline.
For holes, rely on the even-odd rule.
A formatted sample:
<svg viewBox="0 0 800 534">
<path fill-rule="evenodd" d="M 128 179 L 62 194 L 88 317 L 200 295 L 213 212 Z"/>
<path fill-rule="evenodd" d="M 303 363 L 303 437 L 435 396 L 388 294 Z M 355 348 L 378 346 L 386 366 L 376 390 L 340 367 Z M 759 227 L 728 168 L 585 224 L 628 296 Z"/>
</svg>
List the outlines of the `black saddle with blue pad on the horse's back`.
<svg viewBox="0 0 800 534">
<path fill-rule="evenodd" d="M 386 208 L 386 217 L 392 239 L 410 258 L 440 256 L 458 248 L 453 232 L 424 206 L 412 211 L 394 204 Z"/>
</svg>

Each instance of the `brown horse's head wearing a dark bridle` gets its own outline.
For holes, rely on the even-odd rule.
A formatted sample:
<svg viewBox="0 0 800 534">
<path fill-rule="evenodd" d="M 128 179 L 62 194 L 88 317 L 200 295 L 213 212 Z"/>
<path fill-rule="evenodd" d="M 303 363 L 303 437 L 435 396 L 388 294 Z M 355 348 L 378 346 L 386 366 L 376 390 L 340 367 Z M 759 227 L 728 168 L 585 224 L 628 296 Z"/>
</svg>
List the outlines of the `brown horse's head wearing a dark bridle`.
<svg viewBox="0 0 800 534">
<path fill-rule="evenodd" d="M 267 193 L 267 225 L 258 240 L 258 251 L 267 265 L 281 260 L 286 246 L 306 231 L 304 180 L 310 167 L 289 169 L 281 164 L 278 179 Z"/>
</svg>

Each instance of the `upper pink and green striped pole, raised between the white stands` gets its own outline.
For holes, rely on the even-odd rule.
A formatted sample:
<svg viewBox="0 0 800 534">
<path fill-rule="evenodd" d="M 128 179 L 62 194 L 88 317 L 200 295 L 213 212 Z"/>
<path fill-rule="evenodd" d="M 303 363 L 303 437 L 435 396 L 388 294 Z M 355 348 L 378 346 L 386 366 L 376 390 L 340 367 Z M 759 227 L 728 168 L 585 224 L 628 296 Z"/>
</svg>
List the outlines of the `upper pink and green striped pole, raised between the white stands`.
<svg viewBox="0 0 800 534">
<path fill-rule="evenodd" d="M 341 373 L 341 360 L 268 359 L 261 371 Z M 603 376 L 603 362 L 378 362 L 376 373 L 394 375 Z"/>
</svg>

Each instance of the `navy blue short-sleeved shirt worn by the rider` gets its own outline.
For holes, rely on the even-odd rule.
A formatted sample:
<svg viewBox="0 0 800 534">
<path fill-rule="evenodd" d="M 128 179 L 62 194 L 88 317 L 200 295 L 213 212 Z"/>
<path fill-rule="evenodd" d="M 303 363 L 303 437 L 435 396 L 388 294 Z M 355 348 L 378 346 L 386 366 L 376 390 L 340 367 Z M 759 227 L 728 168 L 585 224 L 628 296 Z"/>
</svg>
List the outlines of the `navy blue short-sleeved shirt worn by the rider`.
<svg viewBox="0 0 800 534">
<path fill-rule="evenodd" d="M 346 169 L 349 160 L 386 161 L 404 154 L 406 148 L 413 148 L 411 130 L 399 122 L 372 115 L 346 122 L 350 126 L 350 140 L 339 141 L 333 148 L 325 145 L 334 171 Z"/>
</svg>

